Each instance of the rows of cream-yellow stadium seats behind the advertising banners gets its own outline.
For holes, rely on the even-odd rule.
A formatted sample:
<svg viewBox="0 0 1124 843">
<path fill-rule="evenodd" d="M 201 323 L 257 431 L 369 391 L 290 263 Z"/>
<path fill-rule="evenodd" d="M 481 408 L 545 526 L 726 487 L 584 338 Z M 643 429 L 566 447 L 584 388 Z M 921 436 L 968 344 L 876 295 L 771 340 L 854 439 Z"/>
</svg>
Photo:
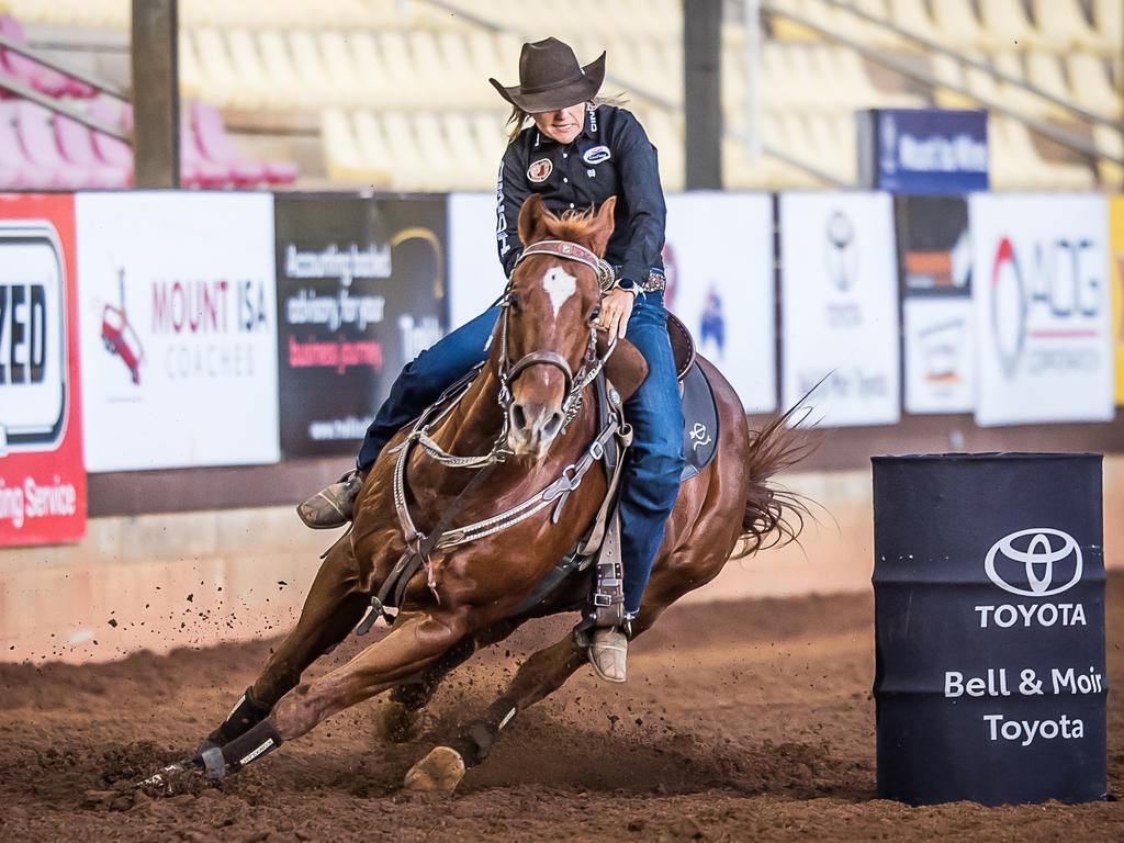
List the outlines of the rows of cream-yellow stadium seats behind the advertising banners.
<svg viewBox="0 0 1124 843">
<path fill-rule="evenodd" d="M 128 0 L 3 3 L 35 25 L 126 29 L 129 22 Z M 1118 78 L 1124 73 L 1121 0 L 853 0 L 853 4 L 960 55 L 977 57 L 1055 100 L 1106 119 L 1124 117 Z M 180 0 L 182 94 L 228 110 L 228 118 L 239 126 L 253 126 L 261 115 L 264 125 L 291 125 L 298 137 L 318 128 L 330 180 L 395 190 L 489 189 L 502 152 L 505 107 L 486 80 L 514 81 L 522 40 L 555 34 L 573 44 L 582 61 L 608 51 L 604 92 L 624 92 L 627 107 L 637 112 L 660 149 L 664 183 L 669 189 L 681 185 L 681 0 L 570 0 L 564 7 L 556 0 L 450 0 L 452 8 L 445 6 L 425 0 L 314 4 Z M 723 24 L 720 56 L 724 118 L 735 133 L 725 146 L 727 183 L 815 184 L 814 176 L 776 157 L 751 165 L 744 144 L 736 139 L 745 124 L 747 74 L 746 30 L 735 7 L 740 4 L 731 4 L 734 16 Z M 977 108 L 975 97 L 979 97 L 1027 120 L 1061 125 L 1073 136 L 1091 135 L 1098 148 L 1111 149 L 1115 143 L 1104 139 L 1111 128 L 1091 127 L 1073 111 L 987 70 L 923 52 L 889 27 L 845 8 L 824 0 L 772 0 L 769 7 L 801 16 L 865 49 L 889 51 L 928 67 L 941 83 L 926 90 L 782 13 L 767 15 L 756 80 L 765 147 L 783 151 L 832 179 L 853 180 L 853 114 L 871 107 Z M 97 134 L 92 142 L 96 152 L 107 145 Z M 192 172 L 207 180 L 209 158 L 197 152 L 200 160 L 192 162 Z M 110 154 L 117 153 L 120 149 Z M 1076 155 L 1061 157 L 1066 154 L 1052 145 L 1040 152 L 1025 127 L 1019 132 L 1004 121 L 994 133 L 992 157 L 1013 162 L 997 165 L 1005 184 L 1087 182 L 1094 171 L 1076 163 L 1081 161 Z M 1027 162 L 1037 169 L 1016 174 L 1016 164 Z M 223 166 L 235 182 L 247 183 L 243 164 L 235 158 Z M 261 169 L 262 176 L 269 171 Z M 1098 172 L 1104 176 L 1115 170 L 1100 166 Z"/>
</svg>

